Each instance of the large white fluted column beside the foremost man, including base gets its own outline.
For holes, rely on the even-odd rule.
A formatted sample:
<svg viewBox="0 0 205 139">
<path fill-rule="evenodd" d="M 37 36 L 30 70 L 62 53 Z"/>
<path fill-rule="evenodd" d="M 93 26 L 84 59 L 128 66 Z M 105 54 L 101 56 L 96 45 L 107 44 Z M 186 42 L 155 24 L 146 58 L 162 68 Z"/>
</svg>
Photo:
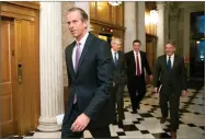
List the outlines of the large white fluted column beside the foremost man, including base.
<svg viewBox="0 0 205 139">
<path fill-rule="evenodd" d="M 64 113 L 61 2 L 41 2 L 41 117 L 42 131 L 57 131 L 56 115 Z"/>
</svg>

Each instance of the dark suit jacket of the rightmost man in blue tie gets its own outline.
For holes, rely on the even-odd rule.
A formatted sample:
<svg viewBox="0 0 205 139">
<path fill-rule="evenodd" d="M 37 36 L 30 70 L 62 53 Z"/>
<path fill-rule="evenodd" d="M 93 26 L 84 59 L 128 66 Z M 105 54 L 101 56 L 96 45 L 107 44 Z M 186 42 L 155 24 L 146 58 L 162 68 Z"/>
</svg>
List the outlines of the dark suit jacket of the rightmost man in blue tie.
<svg viewBox="0 0 205 139">
<path fill-rule="evenodd" d="M 167 67 L 167 55 L 158 57 L 156 63 L 156 72 L 153 76 L 153 86 L 162 84 L 161 93 L 169 93 L 172 86 L 173 93 L 181 94 L 182 90 L 186 90 L 186 70 L 184 59 L 174 55 L 174 61 L 171 71 Z"/>
</svg>

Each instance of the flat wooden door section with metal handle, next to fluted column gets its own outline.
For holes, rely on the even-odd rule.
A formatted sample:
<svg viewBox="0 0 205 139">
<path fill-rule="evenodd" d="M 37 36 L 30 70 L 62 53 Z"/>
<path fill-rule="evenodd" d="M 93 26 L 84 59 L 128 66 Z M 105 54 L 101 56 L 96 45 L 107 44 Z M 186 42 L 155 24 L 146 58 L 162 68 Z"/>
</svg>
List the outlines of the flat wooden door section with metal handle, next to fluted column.
<svg viewBox="0 0 205 139">
<path fill-rule="evenodd" d="M 39 49 L 36 25 L 30 20 L 14 20 L 20 132 L 35 130 L 39 116 Z"/>
</svg>

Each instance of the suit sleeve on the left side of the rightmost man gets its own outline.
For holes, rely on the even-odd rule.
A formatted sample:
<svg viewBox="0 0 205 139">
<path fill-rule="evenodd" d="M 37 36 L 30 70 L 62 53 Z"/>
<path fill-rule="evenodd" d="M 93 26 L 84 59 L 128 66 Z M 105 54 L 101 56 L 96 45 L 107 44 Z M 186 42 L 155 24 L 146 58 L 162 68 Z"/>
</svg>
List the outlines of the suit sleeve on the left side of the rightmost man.
<svg viewBox="0 0 205 139">
<path fill-rule="evenodd" d="M 158 58 L 157 63 L 156 63 L 156 71 L 153 74 L 153 86 L 155 88 L 158 88 L 158 85 L 159 85 L 160 74 L 161 74 L 160 58 Z"/>
</svg>

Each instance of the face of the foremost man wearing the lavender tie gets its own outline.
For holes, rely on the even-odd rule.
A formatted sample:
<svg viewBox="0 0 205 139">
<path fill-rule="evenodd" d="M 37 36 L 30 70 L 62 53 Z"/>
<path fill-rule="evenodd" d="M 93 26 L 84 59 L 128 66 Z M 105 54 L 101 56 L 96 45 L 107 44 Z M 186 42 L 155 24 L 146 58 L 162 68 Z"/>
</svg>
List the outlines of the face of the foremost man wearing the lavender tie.
<svg viewBox="0 0 205 139">
<path fill-rule="evenodd" d="M 87 21 L 82 21 L 80 11 L 69 12 L 67 14 L 67 24 L 70 34 L 78 40 L 81 39 L 87 32 Z"/>
</svg>

